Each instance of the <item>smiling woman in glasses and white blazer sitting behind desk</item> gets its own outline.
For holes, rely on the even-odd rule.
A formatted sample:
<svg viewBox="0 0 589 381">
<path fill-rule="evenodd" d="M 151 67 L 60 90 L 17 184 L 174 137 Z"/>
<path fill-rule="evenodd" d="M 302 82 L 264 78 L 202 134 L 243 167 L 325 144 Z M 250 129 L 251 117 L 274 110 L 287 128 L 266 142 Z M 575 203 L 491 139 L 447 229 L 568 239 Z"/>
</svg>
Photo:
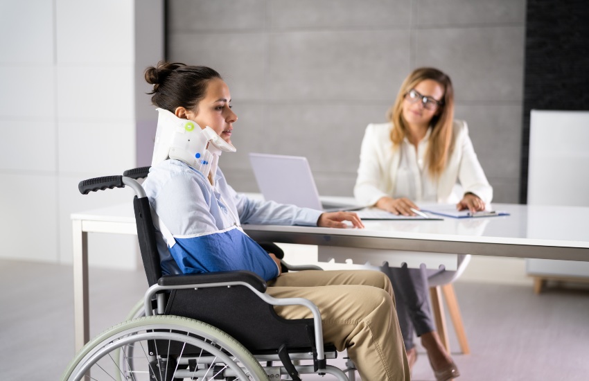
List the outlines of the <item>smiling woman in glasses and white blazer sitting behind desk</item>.
<svg viewBox="0 0 589 381">
<path fill-rule="evenodd" d="M 388 112 L 388 123 L 368 125 L 360 151 L 354 195 L 360 204 L 396 215 L 415 215 L 416 203 L 456 203 L 482 211 L 489 185 L 464 121 L 454 120 L 450 78 L 433 68 L 412 71 Z M 464 190 L 456 194 L 457 183 Z M 413 209 L 413 210 L 412 210 Z M 407 360 L 417 357 L 414 331 L 428 351 L 438 381 L 459 375 L 435 330 L 428 302 L 428 274 L 421 269 L 386 269 L 391 274 Z"/>
</svg>

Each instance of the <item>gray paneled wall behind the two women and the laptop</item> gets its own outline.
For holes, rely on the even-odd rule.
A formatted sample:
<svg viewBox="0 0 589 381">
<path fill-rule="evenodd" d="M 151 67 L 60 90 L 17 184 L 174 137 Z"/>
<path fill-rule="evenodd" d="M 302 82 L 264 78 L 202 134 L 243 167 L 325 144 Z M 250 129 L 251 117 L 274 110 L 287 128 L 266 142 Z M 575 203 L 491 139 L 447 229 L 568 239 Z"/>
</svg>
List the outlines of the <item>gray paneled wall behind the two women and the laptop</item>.
<svg viewBox="0 0 589 381">
<path fill-rule="evenodd" d="M 452 78 L 495 202 L 518 202 L 525 0 L 169 0 L 167 58 L 225 77 L 239 121 L 221 166 L 257 191 L 247 152 L 308 157 L 319 193 L 351 195 L 368 123 L 401 81 Z"/>
</svg>

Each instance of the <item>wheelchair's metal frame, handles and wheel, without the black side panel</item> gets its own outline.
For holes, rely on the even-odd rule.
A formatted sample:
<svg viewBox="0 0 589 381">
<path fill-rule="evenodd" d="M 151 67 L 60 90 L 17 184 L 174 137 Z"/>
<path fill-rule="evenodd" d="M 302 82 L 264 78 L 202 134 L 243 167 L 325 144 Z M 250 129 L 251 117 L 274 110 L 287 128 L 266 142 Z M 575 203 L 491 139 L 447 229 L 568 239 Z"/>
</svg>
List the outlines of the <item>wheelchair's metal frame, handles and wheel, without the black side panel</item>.
<svg viewBox="0 0 589 381">
<path fill-rule="evenodd" d="M 148 370 L 144 372 L 148 373 L 149 380 L 168 381 L 184 378 L 190 380 L 270 380 L 270 378 L 301 380 L 299 374 L 318 373 L 319 375 L 334 375 L 340 381 L 353 381 L 355 379 L 355 368 L 350 361 L 346 364 L 349 365 L 348 369 L 344 370 L 349 372 L 349 378 L 342 369 L 326 364 L 326 359 L 337 357 L 337 352 L 335 352 L 333 346 L 329 347 L 328 351 L 324 350 L 321 313 L 317 306 L 308 299 L 276 299 L 265 294 L 264 291 L 267 287 L 265 281 L 251 272 L 237 271 L 161 276 L 159 254 L 157 254 L 155 241 L 152 241 L 155 236 L 155 229 L 152 223 L 149 202 L 143 186 L 137 181 L 137 179 L 146 177 L 148 170 L 149 167 L 135 168 L 125 171 L 123 176 L 97 177 L 80 181 L 78 185 L 78 189 L 82 194 L 107 188 L 124 188 L 125 186 L 134 190 L 138 239 L 143 266 L 150 287 L 143 297 L 143 309 L 146 316 L 124 321 L 109 328 L 87 343 L 64 371 L 62 380 L 89 379 L 90 376 L 87 371 L 95 365 L 104 370 L 103 366 L 98 364 L 103 361 L 107 362 L 107 364 L 114 363 L 116 380 L 137 380 L 136 375 L 139 376 L 139 373 L 134 369 L 137 366 L 136 360 L 134 360 L 134 351 L 137 350 L 135 346 L 137 342 L 140 342 L 141 348 L 145 351 L 143 342 L 146 342 L 149 354 L 146 353 L 147 360 L 144 361 L 147 362 L 146 367 Z M 320 267 L 294 266 L 290 267 L 290 269 L 298 271 L 301 269 L 320 269 Z M 305 325 L 306 333 L 310 339 L 309 345 L 301 351 L 301 348 L 289 348 L 285 343 L 282 343 L 279 344 L 279 348 L 272 348 L 272 351 L 258 351 L 255 355 L 252 355 L 250 348 L 246 348 L 234 337 L 215 327 L 215 324 L 211 325 L 200 321 L 200 319 L 166 314 L 166 306 L 169 308 L 168 301 L 170 301 L 169 296 L 172 293 L 213 289 L 227 290 L 231 288 L 235 292 L 241 290 L 240 287 L 245 287 L 258 299 L 267 303 L 269 305 L 268 310 L 271 311 L 270 314 L 273 314 L 274 319 L 288 322 L 285 327 L 293 326 L 293 323 Z M 277 317 L 272 305 L 304 305 L 312 312 L 313 319 L 286 321 Z M 128 318 L 137 315 L 135 312 L 138 312 L 138 308 L 139 303 L 130 312 Z M 310 321 L 312 321 L 311 325 Z M 311 326 L 312 334 L 310 332 Z M 299 329 L 297 332 L 301 332 L 301 328 L 297 329 Z M 291 331 L 295 332 L 294 330 Z M 173 341 L 177 342 L 177 344 L 170 344 Z M 168 352 L 164 353 L 164 355 L 169 354 L 167 357 L 160 356 L 157 353 L 158 351 L 166 351 L 162 346 L 165 342 L 168 343 Z M 288 342 L 288 336 L 285 342 Z M 180 346 L 182 351 L 178 354 Z M 192 353 L 186 356 L 187 358 L 183 357 L 185 348 L 187 348 L 186 353 L 200 350 L 197 364 L 195 364 L 195 358 L 191 357 L 193 356 Z M 256 348 L 254 348 L 254 352 L 256 352 Z M 114 359 L 111 353 L 114 353 Z M 203 353 L 206 355 L 203 356 Z M 107 355 L 112 361 L 108 360 Z M 295 360 L 294 364 L 292 360 Z M 299 360 L 313 360 L 313 365 L 298 364 Z M 267 362 L 267 364 L 261 366 L 260 362 Z M 273 366 L 274 362 L 281 362 L 282 365 Z M 168 371 L 170 374 L 168 374 Z M 94 380 L 94 373 L 92 374 Z M 287 378 L 282 378 L 283 376 Z M 112 378 L 112 375 L 110 377 Z"/>
</svg>

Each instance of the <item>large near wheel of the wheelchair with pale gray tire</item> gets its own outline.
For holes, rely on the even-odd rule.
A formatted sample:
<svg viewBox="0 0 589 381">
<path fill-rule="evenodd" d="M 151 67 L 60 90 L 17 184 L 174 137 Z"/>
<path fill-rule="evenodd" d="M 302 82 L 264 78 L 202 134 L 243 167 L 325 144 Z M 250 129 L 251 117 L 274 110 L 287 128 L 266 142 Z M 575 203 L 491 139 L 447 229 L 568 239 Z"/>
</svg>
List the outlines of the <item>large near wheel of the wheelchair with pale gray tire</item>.
<svg viewBox="0 0 589 381">
<path fill-rule="evenodd" d="M 118 349 L 124 354 L 123 364 L 119 364 Z M 227 333 L 202 321 L 170 315 L 142 317 L 109 328 L 86 344 L 62 375 L 63 381 L 118 378 L 268 380 L 252 354 Z"/>
</svg>

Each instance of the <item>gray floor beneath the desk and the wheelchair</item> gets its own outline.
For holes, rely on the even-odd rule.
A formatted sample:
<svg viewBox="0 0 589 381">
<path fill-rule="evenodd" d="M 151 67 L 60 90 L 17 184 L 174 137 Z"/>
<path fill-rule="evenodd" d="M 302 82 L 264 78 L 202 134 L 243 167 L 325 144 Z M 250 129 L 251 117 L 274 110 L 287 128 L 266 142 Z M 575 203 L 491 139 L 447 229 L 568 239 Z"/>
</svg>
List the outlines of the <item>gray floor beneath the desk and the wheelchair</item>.
<svg viewBox="0 0 589 381">
<path fill-rule="evenodd" d="M 89 277 L 94 336 L 125 317 L 147 282 L 142 273 L 112 269 L 91 269 Z M 74 355 L 72 283 L 71 266 L 0 260 L 1 380 L 59 379 Z M 586 285 L 540 296 L 522 286 L 455 288 L 472 352 L 454 354 L 458 380 L 589 380 Z M 413 380 L 434 380 L 421 348 Z"/>
</svg>

